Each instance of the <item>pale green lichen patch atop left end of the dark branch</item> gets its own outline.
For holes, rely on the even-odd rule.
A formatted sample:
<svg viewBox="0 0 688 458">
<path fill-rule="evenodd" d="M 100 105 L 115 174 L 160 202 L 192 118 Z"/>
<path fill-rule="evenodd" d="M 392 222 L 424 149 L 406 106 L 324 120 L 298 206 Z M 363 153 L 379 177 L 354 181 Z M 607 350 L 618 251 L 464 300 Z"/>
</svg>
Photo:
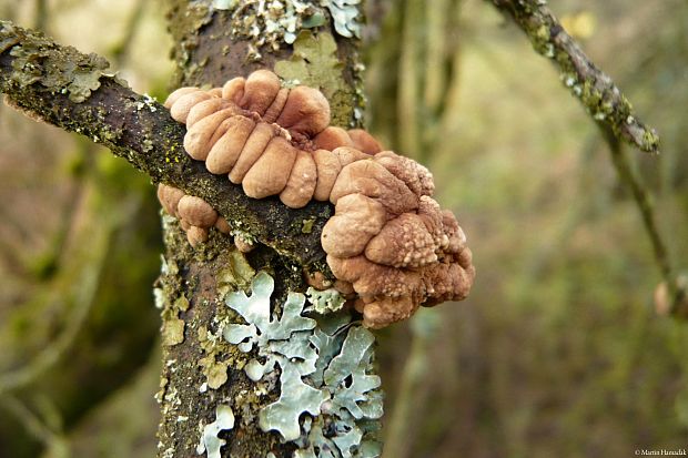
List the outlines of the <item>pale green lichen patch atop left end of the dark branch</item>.
<svg viewBox="0 0 688 458">
<path fill-rule="evenodd" d="M 21 39 L 19 29 L 0 22 L 0 52 L 10 50 L 11 80 L 19 86 L 40 83 L 53 93 L 68 94 L 74 103 L 85 101 L 100 88 L 100 78 L 110 67 L 97 54 L 81 54 L 73 48 L 61 50 L 42 34 L 32 33 Z"/>
</svg>

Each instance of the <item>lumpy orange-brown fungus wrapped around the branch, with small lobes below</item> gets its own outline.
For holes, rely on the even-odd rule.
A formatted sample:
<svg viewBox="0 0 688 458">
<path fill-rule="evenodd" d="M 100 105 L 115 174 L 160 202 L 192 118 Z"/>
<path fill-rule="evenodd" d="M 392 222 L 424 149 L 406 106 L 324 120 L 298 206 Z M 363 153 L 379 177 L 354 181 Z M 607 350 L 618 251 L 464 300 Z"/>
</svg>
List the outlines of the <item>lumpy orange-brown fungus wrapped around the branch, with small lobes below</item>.
<svg viewBox="0 0 688 458">
<path fill-rule="evenodd" d="M 241 183 L 250 197 L 277 195 L 293 208 L 312 199 L 335 205 L 321 241 L 335 287 L 357 295 L 365 326 L 384 327 L 419 305 L 467 296 L 475 276 L 471 250 L 452 212 L 432 199 L 432 174 L 383 151 L 363 130 L 330 126 L 320 91 L 283 88 L 260 70 L 222 89 L 179 89 L 165 106 L 188 126 L 186 152 Z M 182 226 L 208 228 L 217 220 L 198 197 L 159 194 Z M 199 206 L 193 212 L 192 204 Z M 200 230 L 188 235 L 190 242 L 206 236 Z"/>
</svg>

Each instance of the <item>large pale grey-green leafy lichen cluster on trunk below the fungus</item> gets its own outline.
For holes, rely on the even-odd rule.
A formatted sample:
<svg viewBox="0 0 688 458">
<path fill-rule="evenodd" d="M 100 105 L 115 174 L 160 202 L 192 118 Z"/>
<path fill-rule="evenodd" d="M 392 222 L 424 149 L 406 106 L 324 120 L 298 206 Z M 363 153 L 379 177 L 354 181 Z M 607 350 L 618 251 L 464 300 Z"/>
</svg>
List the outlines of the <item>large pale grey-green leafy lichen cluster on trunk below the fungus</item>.
<svg viewBox="0 0 688 458">
<path fill-rule="evenodd" d="M 380 377 L 372 374 L 375 337 L 352 326 L 345 312 L 303 316 L 306 301 L 300 293 L 289 293 L 280 316 L 271 314 L 273 291 L 272 277 L 261 272 L 251 296 L 227 295 L 227 306 L 246 324 L 223 330 L 242 352 L 257 346 L 263 363 L 246 364 L 251 379 L 261 380 L 280 367 L 281 395 L 261 409 L 261 428 L 296 444 L 295 458 L 378 457 L 383 393 Z"/>
</svg>

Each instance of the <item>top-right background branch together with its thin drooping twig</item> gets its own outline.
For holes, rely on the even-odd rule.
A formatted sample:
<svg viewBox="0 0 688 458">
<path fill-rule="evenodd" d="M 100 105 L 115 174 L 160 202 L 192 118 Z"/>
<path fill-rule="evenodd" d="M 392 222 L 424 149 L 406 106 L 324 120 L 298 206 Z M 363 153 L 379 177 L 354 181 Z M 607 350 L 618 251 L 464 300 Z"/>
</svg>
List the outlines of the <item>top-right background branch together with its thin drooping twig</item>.
<svg viewBox="0 0 688 458">
<path fill-rule="evenodd" d="M 659 152 L 657 131 L 641 123 L 628 99 L 611 78 L 599 70 L 583 52 L 578 43 L 564 30 L 544 0 L 493 0 L 500 11 L 508 13 L 526 33 L 533 48 L 554 60 L 561 72 L 564 84 L 570 88 L 593 120 L 600 126 L 611 151 L 611 160 L 624 185 L 630 190 L 643 217 L 643 225 L 652 245 L 655 261 L 670 297 L 671 313 L 685 311 L 686 291 L 679 287 L 671 267 L 667 243 L 656 223 L 650 192 L 634 172 L 621 141 L 648 153 Z"/>
</svg>

